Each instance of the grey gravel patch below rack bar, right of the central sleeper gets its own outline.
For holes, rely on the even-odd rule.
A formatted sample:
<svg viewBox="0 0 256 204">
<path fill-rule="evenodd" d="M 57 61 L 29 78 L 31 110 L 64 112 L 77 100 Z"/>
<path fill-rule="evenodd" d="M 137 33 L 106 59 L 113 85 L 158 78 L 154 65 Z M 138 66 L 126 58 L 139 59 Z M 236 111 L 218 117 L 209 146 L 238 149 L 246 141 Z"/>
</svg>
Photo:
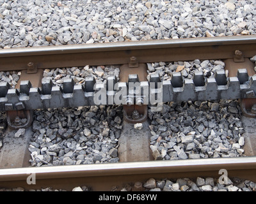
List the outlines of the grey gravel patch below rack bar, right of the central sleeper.
<svg viewBox="0 0 256 204">
<path fill-rule="evenodd" d="M 150 149 L 156 160 L 244 156 L 237 100 L 163 104 L 149 110 Z"/>
</svg>

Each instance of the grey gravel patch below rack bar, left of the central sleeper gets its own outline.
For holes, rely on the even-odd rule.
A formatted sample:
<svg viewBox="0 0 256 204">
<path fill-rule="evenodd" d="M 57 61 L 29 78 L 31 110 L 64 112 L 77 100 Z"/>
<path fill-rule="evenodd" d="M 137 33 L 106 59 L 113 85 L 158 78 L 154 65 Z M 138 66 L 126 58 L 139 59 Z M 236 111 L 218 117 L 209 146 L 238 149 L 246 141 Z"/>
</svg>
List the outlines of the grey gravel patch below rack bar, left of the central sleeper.
<svg viewBox="0 0 256 204">
<path fill-rule="evenodd" d="M 116 163 L 122 106 L 35 110 L 32 166 Z"/>
</svg>

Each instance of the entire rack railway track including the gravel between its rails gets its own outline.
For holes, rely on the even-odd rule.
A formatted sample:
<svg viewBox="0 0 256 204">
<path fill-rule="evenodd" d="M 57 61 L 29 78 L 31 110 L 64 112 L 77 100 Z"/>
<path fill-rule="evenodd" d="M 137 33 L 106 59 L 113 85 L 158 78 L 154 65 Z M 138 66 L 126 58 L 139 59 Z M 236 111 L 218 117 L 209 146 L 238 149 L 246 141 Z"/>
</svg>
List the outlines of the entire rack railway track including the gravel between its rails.
<svg viewBox="0 0 256 204">
<path fill-rule="evenodd" d="M 8 82 L 0 87 L 1 110 L 6 112 L 1 115 L 1 187 L 67 191 L 78 186 L 93 191 L 135 187 L 139 191 L 136 185 L 142 185 L 145 191 L 163 191 L 164 187 L 166 191 L 193 190 L 199 177 L 207 184 L 197 186 L 198 191 L 217 191 L 221 189 L 214 186 L 221 177 L 219 171 L 225 170 L 228 178 L 244 183 L 234 179 L 224 190 L 255 191 L 255 71 L 254 61 L 250 61 L 255 55 L 255 38 L 158 43 L 22 48 L 0 53 L 5 63 L 2 69 L 7 69 L 3 71 L 21 71 L 17 84 L 10 80 L 16 89 Z M 188 55 L 192 48 L 199 55 Z M 234 52 L 238 48 L 243 52 Z M 147 54 L 141 55 L 141 49 Z M 160 54 L 154 57 L 156 52 Z M 81 59 L 84 53 L 86 57 Z M 67 59 L 61 61 L 64 55 Z M 103 55 L 100 63 L 106 65 L 100 65 L 95 55 Z M 40 62 L 43 56 L 49 61 Z M 14 57 L 15 67 L 11 63 Z M 111 63 L 126 65 L 113 68 Z M 77 67 L 61 69 L 63 64 Z M 129 90 L 125 104 L 112 103 L 111 96 L 118 93 L 116 82 L 118 89 L 138 82 L 143 94 L 147 90 L 157 94 L 157 82 L 162 83 L 161 110 L 145 105 L 145 96 L 135 96 L 136 89 Z M 95 101 L 93 97 L 104 86 L 108 100 L 102 102 L 104 95 L 100 95 Z M 33 180 L 34 175 L 32 187 L 28 177 Z M 209 177 L 214 184 L 210 185 Z M 154 187 L 147 187 L 150 178 Z M 176 180 L 184 178 L 184 185 Z"/>
</svg>

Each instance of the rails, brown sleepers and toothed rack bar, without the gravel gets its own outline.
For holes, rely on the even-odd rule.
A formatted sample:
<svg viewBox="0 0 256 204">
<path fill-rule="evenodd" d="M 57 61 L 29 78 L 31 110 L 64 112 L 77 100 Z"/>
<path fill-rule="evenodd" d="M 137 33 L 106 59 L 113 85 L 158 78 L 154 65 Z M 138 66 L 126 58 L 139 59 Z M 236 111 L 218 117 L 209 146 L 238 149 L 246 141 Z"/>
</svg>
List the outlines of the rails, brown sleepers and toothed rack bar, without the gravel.
<svg viewBox="0 0 256 204">
<path fill-rule="evenodd" d="M 35 189 L 49 186 L 61 189 L 65 186 L 70 191 L 85 185 L 94 191 L 110 191 L 113 186 L 120 190 L 125 183 L 145 182 L 149 178 L 218 179 L 219 171 L 223 169 L 227 170 L 228 177 L 256 182 L 253 132 L 256 78 L 253 76 L 254 64 L 250 61 L 256 55 L 255 44 L 255 36 L 228 36 L 0 50 L 1 71 L 21 71 L 15 89 L 8 83 L 0 84 L 0 108 L 6 113 L 8 124 L 0 149 L 0 186 L 31 189 L 27 179 L 29 174 L 35 173 Z M 175 71 L 170 73 L 170 80 L 147 72 L 147 63 L 195 59 L 222 60 L 225 69 L 216 71 L 209 78 L 202 71 L 196 71 L 191 79 L 184 79 L 179 71 Z M 84 78 L 83 83 L 70 78 L 61 86 L 54 85 L 42 75 L 44 69 L 86 64 L 118 65 L 120 73 L 118 78 L 106 78 L 105 83 L 96 82 L 93 77 Z M 243 130 L 245 143 L 241 145 L 244 156 L 153 161 L 157 160 L 159 152 L 150 149 L 148 107 L 149 112 L 161 112 L 163 103 L 220 99 L 239 99 L 242 121 L 246 124 Z M 118 148 L 119 163 L 28 168 L 28 158 L 32 155 L 36 159 L 37 156 L 28 152 L 33 137 L 33 110 L 95 105 L 122 105 L 124 121 L 115 147 Z M 142 124 L 142 127 L 134 128 L 134 124 Z M 26 134 L 15 138 L 13 135 L 19 129 L 25 129 Z M 87 134 L 86 131 L 83 133 Z M 188 139 L 189 134 L 187 136 Z M 232 142 L 238 140 L 234 138 Z M 179 154 L 180 146 L 175 148 Z M 241 149 L 240 146 L 237 149 Z"/>
</svg>

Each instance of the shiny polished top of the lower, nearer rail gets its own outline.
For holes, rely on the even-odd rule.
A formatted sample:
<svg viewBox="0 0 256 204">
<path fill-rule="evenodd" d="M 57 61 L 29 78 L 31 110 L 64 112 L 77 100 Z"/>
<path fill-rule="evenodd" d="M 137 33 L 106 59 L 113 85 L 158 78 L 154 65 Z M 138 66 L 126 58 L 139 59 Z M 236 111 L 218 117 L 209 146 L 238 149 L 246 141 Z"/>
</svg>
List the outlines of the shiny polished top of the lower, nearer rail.
<svg viewBox="0 0 256 204">
<path fill-rule="evenodd" d="M 8 168 L 0 170 L 0 182 L 6 180 L 26 180 L 30 173 L 35 173 L 37 179 L 56 179 L 72 177 L 108 177 L 113 175 L 150 175 L 152 173 L 179 173 L 189 171 L 218 172 L 220 169 L 230 171 L 253 170 L 256 172 L 256 156 L 44 166 L 40 168 Z"/>
</svg>

